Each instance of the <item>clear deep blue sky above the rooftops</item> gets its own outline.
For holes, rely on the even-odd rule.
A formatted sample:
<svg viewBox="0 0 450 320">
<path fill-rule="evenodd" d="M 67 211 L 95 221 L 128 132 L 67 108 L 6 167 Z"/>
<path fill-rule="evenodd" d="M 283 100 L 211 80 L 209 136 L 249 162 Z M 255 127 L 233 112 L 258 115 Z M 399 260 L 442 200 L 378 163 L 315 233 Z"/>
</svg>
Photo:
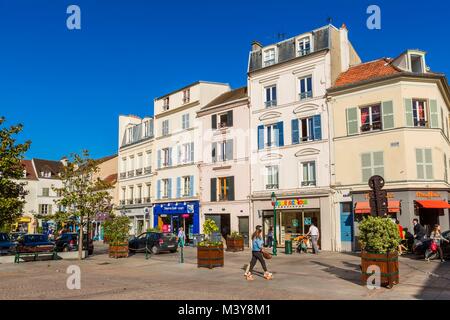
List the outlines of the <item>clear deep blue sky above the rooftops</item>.
<svg viewBox="0 0 450 320">
<path fill-rule="evenodd" d="M 81 30 L 66 8 L 81 8 Z M 366 9 L 381 8 L 381 30 Z M 119 114 L 153 114 L 153 98 L 196 80 L 246 84 L 250 43 L 343 22 L 363 61 L 406 48 L 450 74 L 446 1 L 0 0 L 0 115 L 23 123 L 27 158 L 117 152 Z M 447 59 L 446 59 L 447 58 Z"/>
</svg>

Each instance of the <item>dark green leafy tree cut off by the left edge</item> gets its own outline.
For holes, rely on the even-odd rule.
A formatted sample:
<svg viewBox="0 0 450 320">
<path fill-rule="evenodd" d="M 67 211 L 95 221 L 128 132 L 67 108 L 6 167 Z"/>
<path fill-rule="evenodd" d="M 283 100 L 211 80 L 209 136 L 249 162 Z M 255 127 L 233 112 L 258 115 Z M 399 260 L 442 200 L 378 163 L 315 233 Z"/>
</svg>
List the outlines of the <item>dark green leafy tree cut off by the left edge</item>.
<svg viewBox="0 0 450 320">
<path fill-rule="evenodd" d="M 23 178 L 22 160 L 30 148 L 30 141 L 17 143 L 15 136 L 23 126 L 13 125 L 1 128 L 5 122 L 0 117 L 0 228 L 6 228 L 22 215 L 27 191 L 26 183 L 17 182 Z"/>
</svg>

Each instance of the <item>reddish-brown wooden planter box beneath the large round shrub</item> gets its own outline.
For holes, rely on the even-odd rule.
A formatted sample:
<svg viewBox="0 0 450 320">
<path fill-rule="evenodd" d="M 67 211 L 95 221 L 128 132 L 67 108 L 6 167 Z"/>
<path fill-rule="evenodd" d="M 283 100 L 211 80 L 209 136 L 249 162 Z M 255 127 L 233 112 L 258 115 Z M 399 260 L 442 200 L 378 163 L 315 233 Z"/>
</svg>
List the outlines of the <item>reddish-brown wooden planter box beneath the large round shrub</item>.
<svg viewBox="0 0 450 320">
<path fill-rule="evenodd" d="M 370 253 L 367 251 L 361 252 L 361 281 L 364 285 L 367 284 L 367 279 L 372 272 L 368 273 L 369 266 L 378 266 L 381 272 L 381 286 L 392 288 L 395 284 L 399 284 L 399 269 L 398 269 L 398 253 Z"/>
</svg>

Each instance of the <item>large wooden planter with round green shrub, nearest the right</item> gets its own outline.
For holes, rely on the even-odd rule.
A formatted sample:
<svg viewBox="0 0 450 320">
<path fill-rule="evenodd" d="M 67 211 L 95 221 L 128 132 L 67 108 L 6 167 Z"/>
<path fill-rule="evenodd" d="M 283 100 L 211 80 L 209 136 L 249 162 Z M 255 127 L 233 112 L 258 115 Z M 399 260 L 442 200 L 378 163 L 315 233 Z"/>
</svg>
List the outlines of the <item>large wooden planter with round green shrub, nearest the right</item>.
<svg viewBox="0 0 450 320">
<path fill-rule="evenodd" d="M 380 284 L 392 288 L 399 283 L 397 248 L 401 239 L 397 225 L 389 218 L 369 216 L 360 223 L 359 232 L 361 280 L 367 284 L 375 266 L 380 270 Z"/>
</svg>

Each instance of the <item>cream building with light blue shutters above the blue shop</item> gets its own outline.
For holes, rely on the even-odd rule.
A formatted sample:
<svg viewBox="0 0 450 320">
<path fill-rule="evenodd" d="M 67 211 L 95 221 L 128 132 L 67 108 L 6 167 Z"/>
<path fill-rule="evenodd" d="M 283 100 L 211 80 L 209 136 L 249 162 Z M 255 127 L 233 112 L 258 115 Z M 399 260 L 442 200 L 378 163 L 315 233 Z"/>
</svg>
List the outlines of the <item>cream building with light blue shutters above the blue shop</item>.
<svg viewBox="0 0 450 320">
<path fill-rule="evenodd" d="M 174 232 L 185 227 L 188 239 L 201 232 L 200 176 L 202 128 L 197 112 L 228 84 L 198 81 L 155 99 L 155 204 L 153 226 Z"/>
</svg>

